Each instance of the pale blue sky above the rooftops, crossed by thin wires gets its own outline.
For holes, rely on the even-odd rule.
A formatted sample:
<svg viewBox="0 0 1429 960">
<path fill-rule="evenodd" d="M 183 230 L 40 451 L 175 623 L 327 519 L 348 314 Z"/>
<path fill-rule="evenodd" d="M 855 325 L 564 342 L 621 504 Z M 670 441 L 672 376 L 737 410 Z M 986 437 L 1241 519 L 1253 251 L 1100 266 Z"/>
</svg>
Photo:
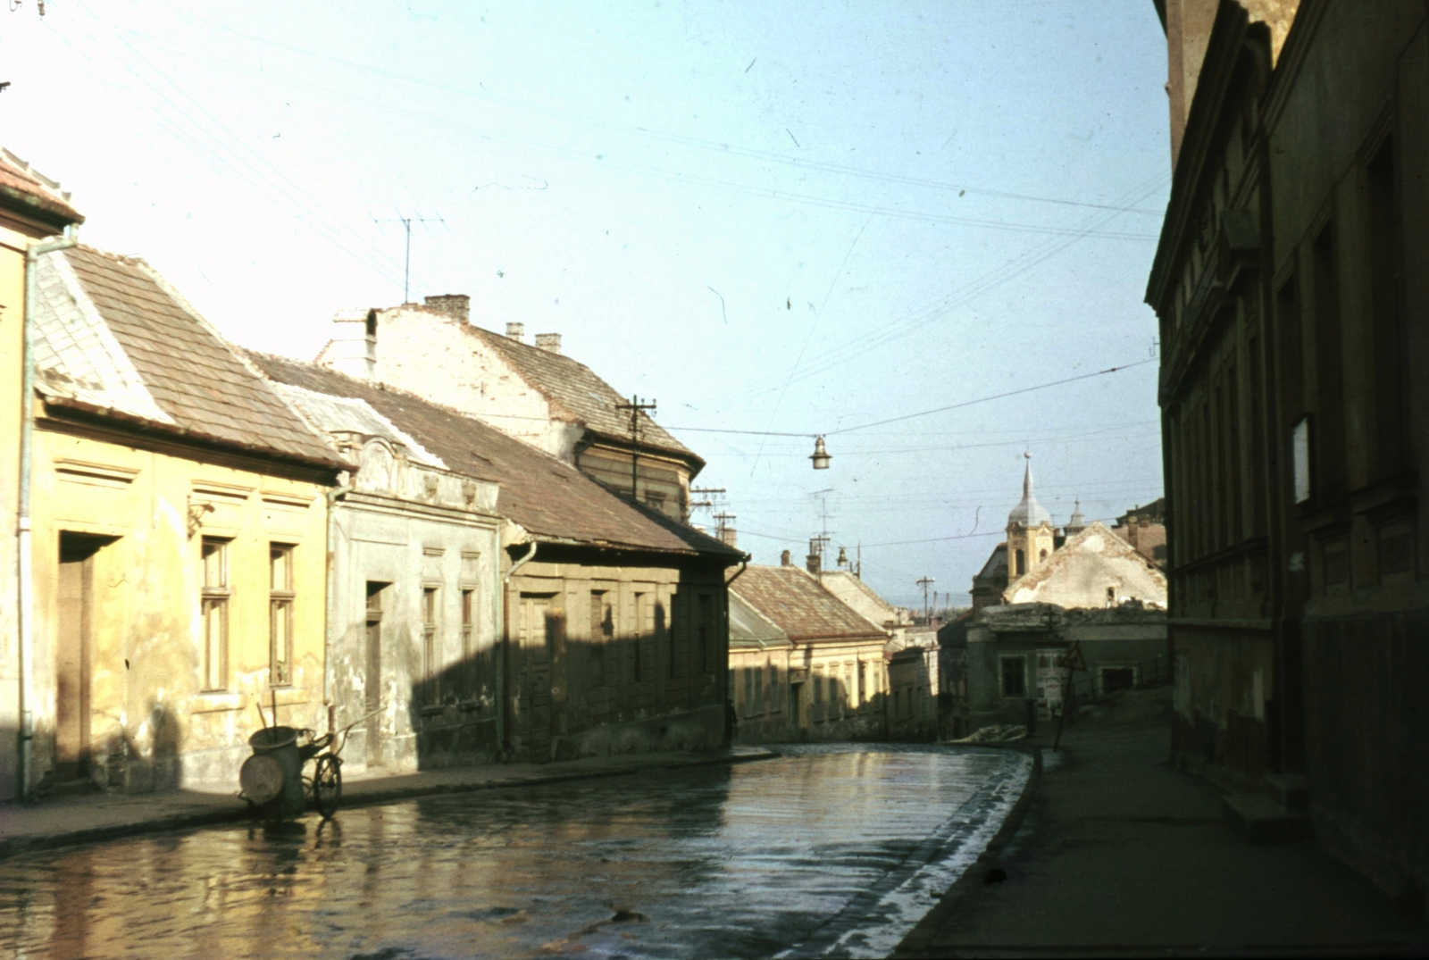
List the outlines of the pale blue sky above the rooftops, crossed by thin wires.
<svg viewBox="0 0 1429 960">
<path fill-rule="evenodd" d="M 756 563 L 827 530 L 889 600 L 932 577 L 966 603 L 1025 454 L 1057 523 L 1162 496 L 1149 0 L 21 0 L 0 24 L 0 143 L 74 191 L 81 240 L 304 360 L 404 281 L 560 333 L 707 460 L 726 493 L 694 521 L 733 514 Z"/>
</svg>

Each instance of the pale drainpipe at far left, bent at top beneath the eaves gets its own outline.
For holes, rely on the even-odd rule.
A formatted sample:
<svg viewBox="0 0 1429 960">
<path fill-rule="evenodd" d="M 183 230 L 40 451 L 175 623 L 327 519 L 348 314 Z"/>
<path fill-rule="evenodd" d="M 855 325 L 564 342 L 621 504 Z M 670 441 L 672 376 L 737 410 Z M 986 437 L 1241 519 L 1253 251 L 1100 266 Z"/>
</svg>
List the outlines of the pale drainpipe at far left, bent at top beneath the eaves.
<svg viewBox="0 0 1429 960">
<path fill-rule="evenodd" d="M 20 504 L 16 516 L 16 566 L 19 567 L 19 606 L 16 617 L 20 620 L 20 743 L 16 763 L 16 799 L 24 800 L 30 796 L 30 741 L 34 740 L 34 690 L 31 680 L 34 674 L 34 569 L 30 556 L 30 463 L 34 457 L 34 307 L 40 296 L 39 281 L 34 271 L 36 264 L 46 253 L 67 250 L 76 246 L 73 231 L 63 240 L 49 243 L 31 243 L 24 251 L 24 331 L 23 369 L 20 374 Z"/>
</svg>

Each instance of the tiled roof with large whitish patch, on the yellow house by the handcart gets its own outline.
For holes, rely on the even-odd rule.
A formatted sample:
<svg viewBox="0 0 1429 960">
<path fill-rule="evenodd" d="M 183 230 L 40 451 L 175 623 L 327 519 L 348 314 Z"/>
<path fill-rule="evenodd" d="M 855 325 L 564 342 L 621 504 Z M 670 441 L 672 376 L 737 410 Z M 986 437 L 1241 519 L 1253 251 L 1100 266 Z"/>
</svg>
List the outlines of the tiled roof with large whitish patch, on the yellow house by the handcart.
<svg viewBox="0 0 1429 960">
<path fill-rule="evenodd" d="M 340 466 L 327 439 L 143 260 L 70 247 L 40 257 L 37 280 L 46 343 L 36 353 L 56 364 L 37 363 L 39 381 L 51 396 L 207 441 Z"/>
</svg>

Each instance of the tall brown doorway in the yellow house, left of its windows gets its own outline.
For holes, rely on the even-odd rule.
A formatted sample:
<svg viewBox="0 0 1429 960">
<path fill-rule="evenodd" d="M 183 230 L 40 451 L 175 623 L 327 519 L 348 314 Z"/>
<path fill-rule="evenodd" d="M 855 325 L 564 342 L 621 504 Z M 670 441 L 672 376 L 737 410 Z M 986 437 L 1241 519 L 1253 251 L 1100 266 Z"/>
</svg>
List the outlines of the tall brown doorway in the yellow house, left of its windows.
<svg viewBox="0 0 1429 960">
<path fill-rule="evenodd" d="M 113 537 L 60 533 L 54 631 L 54 780 L 89 776 L 94 657 L 94 554 Z"/>
</svg>

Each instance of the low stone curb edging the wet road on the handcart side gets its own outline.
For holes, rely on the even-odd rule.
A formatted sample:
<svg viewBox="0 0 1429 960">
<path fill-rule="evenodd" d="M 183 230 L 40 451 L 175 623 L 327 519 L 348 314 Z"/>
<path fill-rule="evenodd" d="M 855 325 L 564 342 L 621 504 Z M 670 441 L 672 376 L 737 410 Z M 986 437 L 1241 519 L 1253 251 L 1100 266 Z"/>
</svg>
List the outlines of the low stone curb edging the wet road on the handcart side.
<svg viewBox="0 0 1429 960">
<path fill-rule="evenodd" d="M 386 803 L 414 800 L 419 797 L 433 797 L 449 793 L 474 793 L 477 790 L 504 790 L 512 787 L 534 787 L 547 783 L 569 783 L 574 780 L 599 780 L 603 777 L 624 777 L 633 773 L 657 773 L 663 770 L 690 770 L 699 767 L 733 766 L 736 763 L 753 763 L 756 760 L 777 760 L 780 754 L 767 750 L 762 754 L 736 754 L 726 757 L 706 757 L 692 763 L 653 763 L 649 766 L 632 766 L 617 770 L 577 770 L 572 773 L 536 774 L 530 777 L 513 777 L 510 780 L 487 780 L 482 783 L 442 783 L 430 786 L 392 787 L 373 790 L 357 796 L 343 797 L 343 809 L 376 807 Z M 360 783 L 360 781 L 359 781 Z M 134 823 L 116 823 L 104 827 L 81 827 L 64 833 L 40 833 L 27 837 L 9 837 L 0 840 L 0 860 L 7 860 L 21 853 L 33 850 L 53 850 L 57 847 L 74 847 L 90 843 L 104 843 L 123 837 L 136 837 L 149 833 L 169 833 L 173 830 L 196 830 L 201 827 L 217 827 L 233 823 L 257 823 L 247 807 L 233 807 L 223 810 L 204 810 L 199 813 L 180 813 L 153 820 L 137 820 Z"/>
</svg>

